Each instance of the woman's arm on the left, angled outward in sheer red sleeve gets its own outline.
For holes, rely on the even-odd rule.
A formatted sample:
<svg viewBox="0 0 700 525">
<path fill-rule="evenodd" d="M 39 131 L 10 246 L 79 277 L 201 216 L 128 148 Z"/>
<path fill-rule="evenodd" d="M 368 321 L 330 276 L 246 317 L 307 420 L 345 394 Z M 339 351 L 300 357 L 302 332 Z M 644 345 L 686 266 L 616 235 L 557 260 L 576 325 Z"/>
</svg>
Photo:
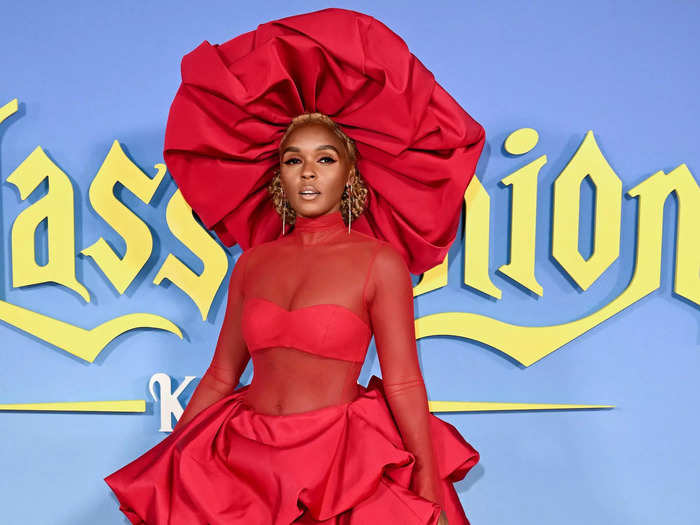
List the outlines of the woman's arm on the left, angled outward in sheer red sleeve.
<svg viewBox="0 0 700 525">
<path fill-rule="evenodd" d="M 173 432 L 177 432 L 205 408 L 231 394 L 238 386 L 241 375 L 250 360 L 250 353 L 241 333 L 243 284 L 248 256 L 249 252 L 243 252 L 233 267 L 228 287 L 226 313 L 214 357 Z"/>
</svg>

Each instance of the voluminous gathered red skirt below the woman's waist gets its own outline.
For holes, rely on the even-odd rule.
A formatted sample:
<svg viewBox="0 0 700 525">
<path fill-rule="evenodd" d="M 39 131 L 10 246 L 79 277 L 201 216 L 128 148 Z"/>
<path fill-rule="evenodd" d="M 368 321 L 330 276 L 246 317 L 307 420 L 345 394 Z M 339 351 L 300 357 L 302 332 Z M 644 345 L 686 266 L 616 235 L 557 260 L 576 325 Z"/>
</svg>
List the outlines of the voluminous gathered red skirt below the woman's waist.
<svg viewBox="0 0 700 525">
<path fill-rule="evenodd" d="M 382 380 L 353 401 L 288 415 L 244 403 L 244 386 L 105 478 L 132 524 L 435 525 L 440 507 L 409 489 L 404 449 Z M 453 483 L 479 461 L 431 414 L 450 525 L 467 525 Z"/>
</svg>

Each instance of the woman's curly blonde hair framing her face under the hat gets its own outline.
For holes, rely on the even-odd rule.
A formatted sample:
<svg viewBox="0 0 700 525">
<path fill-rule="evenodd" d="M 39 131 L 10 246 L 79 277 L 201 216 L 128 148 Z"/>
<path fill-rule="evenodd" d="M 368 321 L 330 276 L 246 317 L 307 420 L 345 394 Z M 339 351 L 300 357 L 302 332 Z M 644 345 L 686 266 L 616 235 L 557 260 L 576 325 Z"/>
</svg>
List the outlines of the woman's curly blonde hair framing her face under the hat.
<svg viewBox="0 0 700 525">
<path fill-rule="evenodd" d="M 352 195 L 350 214 L 352 215 L 352 219 L 355 220 L 365 210 L 365 205 L 367 203 L 367 186 L 357 169 L 357 147 L 355 146 L 355 141 L 348 137 L 335 121 L 323 113 L 302 113 L 292 119 L 284 135 L 282 135 L 280 147 L 295 129 L 308 124 L 323 124 L 335 133 L 345 146 L 345 151 L 347 152 L 348 160 L 351 165 L 351 173 L 354 175 L 352 177 L 352 183 L 350 184 L 350 194 Z M 294 224 L 296 221 L 296 211 L 289 205 L 287 199 L 284 198 L 279 170 L 275 172 L 274 177 L 272 177 L 270 184 L 267 186 L 267 190 L 272 194 L 272 204 L 275 207 L 275 211 L 277 211 L 280 217 L 286 215 L 284 220 L 287 224 Z M 343 220 L 346 222 L 348 219 L 349 205 L 350 195 L 348 195 L 347 191 L 343 191 L 343 196 L 340 199 L 340 211 Z"/>
</svg>

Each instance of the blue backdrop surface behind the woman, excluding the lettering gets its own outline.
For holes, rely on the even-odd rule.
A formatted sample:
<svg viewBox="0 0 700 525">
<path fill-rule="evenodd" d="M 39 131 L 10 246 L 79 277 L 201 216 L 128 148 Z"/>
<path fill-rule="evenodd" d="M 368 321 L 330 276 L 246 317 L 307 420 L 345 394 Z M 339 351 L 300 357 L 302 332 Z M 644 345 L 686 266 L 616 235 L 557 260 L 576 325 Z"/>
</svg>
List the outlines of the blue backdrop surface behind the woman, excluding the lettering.
<svg viewBox="0 0 700 525">
<path fill-rule="evenodd" d="M 450 253 L 447 287 L 416 300 L 417 315 L 477 312 L 524 324 L 563 323 L 617 296 L 634 268 L 636 201 L 623 199 L 620 258 L 586 292 L 550 257 L 552 182 L 588 130 L 623 190 L 697 151 L 697 20 L 690 2 L 339 2 L 383 21 L 486 129 L 478 176 L 492 199 L 490 300 L 461 284 L 463 247 Z M 200 376 L 224 314 L 225 286 L 209 319 L 175 286 L 152 284 L 173 252 L 198 260 L 167 234 L 169 176 L 150 205 L 120 197 L 152 228 L 153 256 L 119 296 L 96 265 L 77 259 L 93 300 L 56 285 L 12 288 L 10 226 L 27 207 L 7 176 L 41 145 L 76 193 L 76 245 L 123 242 L 94 213 L 90 181 L 117 139 L 152 174 L 162 161 L 167 111 L 183 54 L 264 21 L 327 7 L 320 2 L 6 2 L 1 8 L 0 106 L 20 111 L 0 125 L 0 299 L 91 327 L 134 311 L 158 313 L 185 338 L 137 330 L 87 364 L 0 325 L 0 403 L 146 399 L 147 414 L 0 412 L 3 522 L 123 524 L 102 478 L 160 441 L 153 373 Z M 515 129 L 540 132 L 516 158 L 503 151 Z M 544 296 L 495 272 L 508 258 L 510 190 L 498 181 L 547 154 L 538 196 L 536 274 Z M 584 192 L 582 213 L 591 213 Z M 30 202 L 37 197 L 29 199 Z M 700 513 L 698 306 L 672 292 L 676 202 L 664 222 L 661 287 L 530 367 L 469 341 L 419 341 L 430 399 L 613 404 L 611 410 L 442 415 L 477 448 L 481 462 L 457 485 L 474 525 L 689 524 Z M 582 220 L 590 239 L 591 221 Z M 461 232 L 460 232 L 461 235 Z M 585 239 L 584 243 L 585 244 Z M 228 250 L 231 266 L 238 248 Z M 227 282 L 227 281 L 226 281 Z M 375 357 L 363 370 L 379 374 Z M 244 379 L 250 380 L 248 369 Z M 188 389 L 189 394 L 191 389 Z"/>
</svg>

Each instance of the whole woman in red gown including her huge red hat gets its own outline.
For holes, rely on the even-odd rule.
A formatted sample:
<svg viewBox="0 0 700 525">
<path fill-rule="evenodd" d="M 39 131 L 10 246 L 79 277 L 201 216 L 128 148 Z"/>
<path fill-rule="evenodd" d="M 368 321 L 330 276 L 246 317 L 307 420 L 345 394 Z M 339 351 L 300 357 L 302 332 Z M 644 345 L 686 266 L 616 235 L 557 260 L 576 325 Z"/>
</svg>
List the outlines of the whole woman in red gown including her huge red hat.
<svg viewBox="0 0 700 525">
<path fill-rule="evenodd" d="M 409 270 L 440 262 L 454 239 L 483 130 L 415 57 L 402 74 L 387 66 L 409 58 L 396 39 L 332 9 L 183 60 L 166 161 L 205 225 L 244 252 L 212 363 L 175 431 L 106 478 L 132 523 L 468 523 L 453 483 L 479 456 L 428 411 Z M 389 62 L 355 56 L 353 42 Z M 369 81 L 355 81 L 358 67 Z M 420 119 L 396 104 L 397 86 L 422 104 Z M 392 171 L 393 182 L 381 177 Z M 383 379 L 365 388 L 372 335 Z M 236 389 L 251 358 L 253 380 Z"/>
</svg>

